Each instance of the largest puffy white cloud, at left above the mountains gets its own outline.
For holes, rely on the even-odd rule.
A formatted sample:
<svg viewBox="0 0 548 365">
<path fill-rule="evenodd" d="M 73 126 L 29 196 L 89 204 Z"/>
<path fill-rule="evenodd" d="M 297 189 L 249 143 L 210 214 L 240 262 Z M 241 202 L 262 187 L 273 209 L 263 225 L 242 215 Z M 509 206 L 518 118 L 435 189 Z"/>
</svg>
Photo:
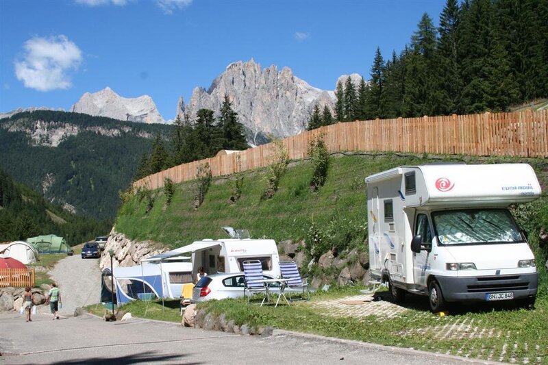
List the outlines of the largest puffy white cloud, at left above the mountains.
<svg viewBox="0 0 548 365">
<path fill-rule="evenodd" d="M 34 37 L 23 45 L 25 53 L 15 64 L 15 76 L 27 88 L 39 91 L 72 86 L 70 71 L 82 62 L 82 51 L 66 36 Z"/>
</svg>

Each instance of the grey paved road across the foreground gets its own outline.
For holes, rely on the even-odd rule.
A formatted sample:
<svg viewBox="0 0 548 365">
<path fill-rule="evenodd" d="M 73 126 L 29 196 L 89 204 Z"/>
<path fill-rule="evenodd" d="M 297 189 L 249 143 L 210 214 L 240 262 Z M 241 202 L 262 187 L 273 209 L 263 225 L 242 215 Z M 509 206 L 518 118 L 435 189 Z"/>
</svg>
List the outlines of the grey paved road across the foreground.
<svg viewBox="0 0 548 365">
<path fill-rule="evenodd" d="M 299 336 L 240 336 L 134 318 L 104 322 L 84 316 L 25 323 L 0 314 L 3 364 L 463 364 L 466 360 L 353 341 Z M 467 361 L 470 362 L 470 361 Z M 485 362 L 479 362 L 485 363 Z"/>
</svg>

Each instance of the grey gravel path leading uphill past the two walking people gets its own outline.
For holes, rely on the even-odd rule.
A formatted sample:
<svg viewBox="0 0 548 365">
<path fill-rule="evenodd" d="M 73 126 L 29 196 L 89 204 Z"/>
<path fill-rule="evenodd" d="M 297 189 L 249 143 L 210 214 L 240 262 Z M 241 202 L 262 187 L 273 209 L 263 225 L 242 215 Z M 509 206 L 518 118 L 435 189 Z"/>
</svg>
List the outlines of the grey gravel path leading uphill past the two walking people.
<svg viewBox="0 0 548 365">
<path fill-rule="evenodd" d="M 77 307 L 99 302 L 99 260 L 82 259 L 80 255 L 67 256 L 55 265 L 50 276 L 61 290 L 60 315 L 73 316 Z M 49 307 L 45 307 L 42 312 L 49 313 Z"/>
</svg>

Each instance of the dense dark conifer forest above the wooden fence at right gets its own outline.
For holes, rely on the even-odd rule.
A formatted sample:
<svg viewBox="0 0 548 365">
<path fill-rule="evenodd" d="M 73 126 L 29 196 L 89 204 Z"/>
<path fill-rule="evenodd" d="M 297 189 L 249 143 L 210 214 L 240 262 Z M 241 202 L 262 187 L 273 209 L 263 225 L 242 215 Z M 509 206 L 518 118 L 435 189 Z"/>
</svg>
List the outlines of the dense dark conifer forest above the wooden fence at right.
<svg viewBox="0 0 548 365">
<path fill-rule="evenodd" d="M 546 0 L 447 0 L 439 27 L 425 13 L 405 49 L 377 48 L 369 82 L 339 82 L 334 118 L 318 105 L 309 129 L 337 121 L 501 112 L 546 98 L 547 34 Z"/>
</svg>

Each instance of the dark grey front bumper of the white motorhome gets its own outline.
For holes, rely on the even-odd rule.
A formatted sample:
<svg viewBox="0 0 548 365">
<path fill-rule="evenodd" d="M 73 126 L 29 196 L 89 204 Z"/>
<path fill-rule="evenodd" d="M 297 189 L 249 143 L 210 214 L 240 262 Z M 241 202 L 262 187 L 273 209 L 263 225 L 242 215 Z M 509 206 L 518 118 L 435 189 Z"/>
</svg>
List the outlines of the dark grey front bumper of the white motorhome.
<svg viewBox="0 0 548 365">
<path fill-rule="evenodd" d="M 536 273 L 488 277 L 436 277 L 446 301 L 486 301 L 486 294 L 512 292 L 514 299 L 536 295 Z"/>
</svg>

